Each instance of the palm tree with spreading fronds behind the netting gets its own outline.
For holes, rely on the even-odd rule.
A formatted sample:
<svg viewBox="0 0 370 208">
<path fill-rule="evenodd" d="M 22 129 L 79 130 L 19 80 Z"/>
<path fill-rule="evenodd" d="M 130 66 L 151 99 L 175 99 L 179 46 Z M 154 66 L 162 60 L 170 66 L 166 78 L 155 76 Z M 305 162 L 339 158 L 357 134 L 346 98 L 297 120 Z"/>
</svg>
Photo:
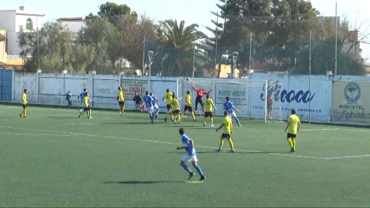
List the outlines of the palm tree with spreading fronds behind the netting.
<svg viewBox="0 0 370 208">
<path fill-rule="evenodd" d="M 185 21 L 178 25 L 177 20 L 165 20 L 160 22 L 161 31 L 163 32 L 167 47 L 171 48 L 169 52 L 162 56 L 162 66 L 167 66 L 170 74 L 177 72 L 178 75 L 189 75 L 192 69 L 192 58 L 196 41 L 206 38 L 207 36 L 198 31 L 197 24 L 191 24 L 185 27 Z"/>
</svg>

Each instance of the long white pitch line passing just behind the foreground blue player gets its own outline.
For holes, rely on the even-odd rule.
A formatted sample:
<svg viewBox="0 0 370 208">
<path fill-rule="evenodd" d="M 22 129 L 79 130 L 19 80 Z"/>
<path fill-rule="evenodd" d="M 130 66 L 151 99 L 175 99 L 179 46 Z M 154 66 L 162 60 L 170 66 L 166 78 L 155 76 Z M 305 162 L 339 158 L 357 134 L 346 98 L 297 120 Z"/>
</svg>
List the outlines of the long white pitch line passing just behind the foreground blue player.
<svg viewBox="0 0 370 208">
<path fill-rule="evenodd" d="M 161 141 L 153 141 L 153 140 L 131 139 L 131 138 L 124 138 L 124 137 L 102 136 L 102 135 L 95 135 L 95 134 L 82 134 L 82 133 L 74 133 L 74 132 L 52 131 L 52 130 L 44 130 L 44 129 L 31 129 L 31 128 L 22 128 L 22 127 L 11 127 L 11 126 L 0 126 L 0 128 L 52 132 L 52 133 L 59 133 L 60 135 L 64 134 L 62 136 L 66 136 L 65 134 L 69 134 L 71 136 L 88 136 L 88 137 L 119 139 L 119 140 L 127 140 L 127 141 L 150 142 L 150 143 L 158 143 L 158 144 L 166 144 L 166 145 L 179 145 L 179 143 L 172 143 L 172 142 L 161 142 Z M 29 134 L 29 135 L 32 135 L 32 134 Z M 46 134 L 46 135 L 49 135 L 49 134 Z M 213 149 L 213 150 L 216 149 L 215 147 L 207 147 L 207 146 L 196 146 L 196 147 L 206 148 L 206 149 Z M 264 153 L 264 152 L 261 152 L 261 151 L 239 150 L 239 149 L 235 149 L 235 150 L 239 151 L 239 152 L 246 152 L 246 153 Z M 355 158 L 355 157 L 369 157 L 370 156 L 370 155 L 359 155 L 359 156 L 315 157 L 315 156 L 299 156 L 299 155 L 294 155 L 294 154 L 282 154 L 282 153 L 266 153 L 266 154 L 268 154 L 268 155 L 277 155 L 277 156 L 291 156 L 291 157 L 299 157 L 299 158 L 309 158 L 309 159 L 320 159 L 320 160 Z"/>
</svg>

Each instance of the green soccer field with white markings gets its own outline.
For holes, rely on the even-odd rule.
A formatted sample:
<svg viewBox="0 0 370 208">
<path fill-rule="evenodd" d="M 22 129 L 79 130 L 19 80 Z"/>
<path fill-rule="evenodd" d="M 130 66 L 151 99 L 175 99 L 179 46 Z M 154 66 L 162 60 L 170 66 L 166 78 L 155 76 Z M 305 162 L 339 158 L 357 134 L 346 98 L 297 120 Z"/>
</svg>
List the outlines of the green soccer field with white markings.
<svg viewBox="0 0 370 208">
<path fill-rule="evenodd" d="M 230 154 L 227 142 L 214 152 L 222 131 L 200 117 L 175 125 L 160 114 L 153 125 L 146 113 L 20 111 L 0 105 L 0 207 L 370 207 L 370 129 L 303 124 L 290 154 L 286 123 L 233 120 Z M 180 127 L 204 182 L 185 182 Z"/>
</svg>

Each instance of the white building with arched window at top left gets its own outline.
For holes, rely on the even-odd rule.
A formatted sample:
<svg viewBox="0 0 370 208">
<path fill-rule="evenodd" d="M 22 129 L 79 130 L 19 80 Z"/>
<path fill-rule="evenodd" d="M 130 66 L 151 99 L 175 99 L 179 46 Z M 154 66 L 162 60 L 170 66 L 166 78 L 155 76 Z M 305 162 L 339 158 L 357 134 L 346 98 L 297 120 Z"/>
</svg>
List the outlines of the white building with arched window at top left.
<svg viewBox="0 0 370 208">
<path fill-rule="evenodd" d="M 0 10 L 0 28 L 6 30 L 8 38 L 8 55 L 19 55 L 21 49 L 18 45 L 20 31 L 36 31 L 44 25 L 45 14 L 24 10 Z"/>
</svg>

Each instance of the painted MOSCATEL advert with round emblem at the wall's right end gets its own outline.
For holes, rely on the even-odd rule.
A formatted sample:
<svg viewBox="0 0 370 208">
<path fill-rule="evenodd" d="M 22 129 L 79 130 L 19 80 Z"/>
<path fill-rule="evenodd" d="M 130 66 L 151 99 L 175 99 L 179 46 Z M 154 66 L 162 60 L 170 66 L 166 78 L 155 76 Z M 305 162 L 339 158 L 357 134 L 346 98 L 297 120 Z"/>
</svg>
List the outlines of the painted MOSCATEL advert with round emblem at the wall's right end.
<svg viewBox="0 0 370 208">
<path fill-rule="evenodd" d="M 369 124 L 370 123 L 370 83 L 333 83 L 333 122 Z"/>
</svg>

